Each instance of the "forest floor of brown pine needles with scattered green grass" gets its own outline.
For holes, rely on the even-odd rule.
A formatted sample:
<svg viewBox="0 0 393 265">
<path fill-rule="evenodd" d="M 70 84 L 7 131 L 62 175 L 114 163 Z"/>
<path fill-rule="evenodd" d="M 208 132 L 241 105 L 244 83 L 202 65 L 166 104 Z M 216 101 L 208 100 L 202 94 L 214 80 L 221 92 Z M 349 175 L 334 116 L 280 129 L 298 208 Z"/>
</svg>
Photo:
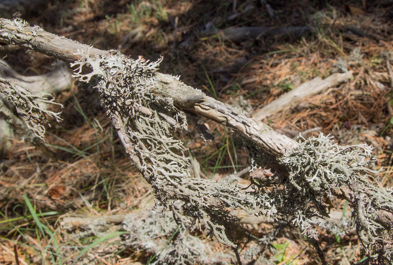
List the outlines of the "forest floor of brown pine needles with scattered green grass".
<svg viewBox="0 0 393 265">
<path fill-rule="evenodd" d="M 269 13 L 264 2 L 54 0 L 21 17 L 51 33 L 99 49 L 119 49 L 131 58 L 157 60 L 161 55 L 160 72 L 180 75 L 186 84 L 253 112 L 314 77 L 352 70 L 347 82 L 283 106 L 263 122 L 294 139 L 299 132 L 306 132 L 303 137 L 322 132 L 331 133 L 342 145 L 371 144 L 379 157 L 373 167 L 384 168 L 376 176 L 379 185 L 393 186 L 393 3 L 267 0 L 273 9 Z M 308 30 L 273 30 L 267 36 L 230 40 L 219 31 L 213 34 L 212 26 Z M 24 75 L 46 73 L 55 62 L 17 47 L 2 47 L 0 55 Z M 99 95 L 87 94 L 84 86 L 73 82 L 57 97 L 64 104 L 64 120 L 47 126 L 46 143 L 58 159 L 26 146 L 18 137 L 11 139 L 0 171 L 0 264 L 15 264 L 15 253 L 22 264 L 72 264 L 79 256 L 87 258 L 76 264 L 154 261 L 146 250 L 121 249 L 118 236 L 99 241 L 97 235 L 81 236 L 82 228 L 70 232 L 64 226 L 66 217 L 140 212 L 154 201 L 149 184 L 131 165 L 99 105 Z M 244 168 L 241 141 L 228 128 L 201 122 L 209 125 L 213 142 L 205 143 L 191 127 L 179 132 L 198 165 L 196 175 L 220 179 Z M 350 211 L 345 201 L 332 202 L 344 215 Z M 275 223 L 248 226 L 258 240 Z M 231 252 L 214 238 L 193 233 L 211 242 L 213 249 Z M 364 259 L 354 230 L 344 236 L 325 229 L 320 233 L 328 264 Z M 320 264 L 315 249 L 292 225 L 281 228 L 272 246 L 275 250 L 263 255 L 273 264 Z"/>
</svg>

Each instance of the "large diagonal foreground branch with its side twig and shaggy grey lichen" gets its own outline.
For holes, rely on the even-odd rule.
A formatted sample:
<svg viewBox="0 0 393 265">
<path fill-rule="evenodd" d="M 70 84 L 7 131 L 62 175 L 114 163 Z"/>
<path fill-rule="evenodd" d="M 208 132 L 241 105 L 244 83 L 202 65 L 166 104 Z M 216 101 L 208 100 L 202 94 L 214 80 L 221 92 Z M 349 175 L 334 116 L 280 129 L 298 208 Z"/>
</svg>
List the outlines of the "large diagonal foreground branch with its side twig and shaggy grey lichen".
<svg viewBox="0 0 393 265">
<path fill-rule="evenodd" d="M 246 233 L 228 210 L 242 208 L 256 216 L 268 212 L 276 219 L 293 217 L 307 236 L 316 239 L 315 226 L 320 224 L 316 218 L 327 217 L 335 195 L 347 199 L 354 209 L 362 244 L 381 263 L 391 262 L 393 196 L 367 178 L 375 173 L 366 167 L 375 162 L 371 147 L 337 146 L 323 135 L 303 143 L 293 141 L 243 110 L 216 101 L 177 77 L 158 73 L 161 58 L 132 60 L 119 51 L 94 49 L 22 20 L 0 19 L 0 41 L 71 62 L 81 81 L 96 77 L 101 104 L 136 168 L 154 188 L 156 204 L 169 208 L 183 227 L 198 219 L 205 232 L 235 249 L 246 239 L 233 235 Z M 242 137 L 253 170 L 264 172 L 263 167 L 270 166 L 273 174 L 254 175 L 246 190 L 231 179 L 217 183 L 190 178 L 185 147 L 173 137 L 158 108 L 173 115 L 182 128 L 187 126 L 184 111 L 231 128 Z"/>
</svg>

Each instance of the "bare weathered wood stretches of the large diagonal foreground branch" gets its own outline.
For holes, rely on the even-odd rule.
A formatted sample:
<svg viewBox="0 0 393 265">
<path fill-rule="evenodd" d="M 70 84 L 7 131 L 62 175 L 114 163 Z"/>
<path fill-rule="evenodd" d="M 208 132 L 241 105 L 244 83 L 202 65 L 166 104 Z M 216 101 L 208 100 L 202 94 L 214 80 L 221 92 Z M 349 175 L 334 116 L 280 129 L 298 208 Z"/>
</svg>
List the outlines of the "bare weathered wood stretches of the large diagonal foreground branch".
<svg viewBox="0 0 393 265">
<path fill-rule="evenodd" d="M 81 58 L 80 55 L 75 55 L 78 50 L 89 49 L 91 58 L 106 56 L 111 52 L 59 37 L 39 27 L 17 27 L 6 19 L 0 20 L 0 42 L 23 46 L 70 63 Z M 276 133 L 270 126 L 253 119 L 245 111 L 217 101 L 202 92 L 196 93 L 191 86 L 171 75 L 157 73 L 156 79 L 158 82 L 152 88 L 155 93 L 173 98 L 174 104 L 184 110 L 232 128 L 234 132 L 250 139 L 271 154 L 281 156 L 298 146 L 296 141 Z"/>
</svg>

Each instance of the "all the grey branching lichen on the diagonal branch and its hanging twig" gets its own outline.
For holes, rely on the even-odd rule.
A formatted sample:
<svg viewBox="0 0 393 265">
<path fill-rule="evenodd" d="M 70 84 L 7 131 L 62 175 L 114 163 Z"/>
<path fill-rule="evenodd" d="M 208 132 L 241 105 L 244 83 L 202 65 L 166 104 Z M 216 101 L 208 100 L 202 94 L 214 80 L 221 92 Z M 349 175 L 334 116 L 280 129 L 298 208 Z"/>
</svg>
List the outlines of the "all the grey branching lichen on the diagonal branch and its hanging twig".
<svg viewBox="0 0 393 265">
<path fill-rule="evenodd" d="M 162 59 L 150 63 L 141 57 L 132 60 L 118 51 L 93 59 L 89 49 L 77 54 L 81 59 L 71 64 L 77 67 L 75 76 L 84 82 L 98 77 L 95 88 L 101 93 L 101 103 L 134 165 L 154 188 L 156 206 L 162 206 L 162 212 L 169 208 L 182 228 L 198 220 L 198 228 L 203 224 L 204 232 L 236 249 L 247 241 L 247 232 L 228 210 L 241 208 L 251 215 L 267 213 L 276 220 L 291 219 L 304 234 L 316 239 L 316 226 L 321 225 L 318 218 L 328 217 L 333 190 L 349 187 L 357 196 L 351 206 L 362 243 L 376 252 L 384 251 L 380 257 L 391 256 L 389 240 L 372 215 L 378 209 L 392 209 L 393 200 L 386 193 L 378 197 L 377 188 L 367 180 L 375 173 L 366 167 L 376 161 L 370 146 L 338 146 L 331 137 L 321 134 L 303 139 L 298 148 L 278 159 L 250 143 L 246 149 L 253 168 L 261 168 L 266 162 L 285 168 L 286 174 L 276 177 L 278 182 L 255 179 L 243 189 L 226 180 L 190 178 L 190 162 L 182 141 L 173 137 L 171 126 L 156 111 L 170 110 L 183 128 L 187 125 L 184 113 L 173 101 L 158 100 L 152 93 L 159 84 L 155 74 Z M 92 72 L 82 73 L 83 66 L 89 66 Z M 182 203 L 175 205 L 176 200 Z"/>
</svg>

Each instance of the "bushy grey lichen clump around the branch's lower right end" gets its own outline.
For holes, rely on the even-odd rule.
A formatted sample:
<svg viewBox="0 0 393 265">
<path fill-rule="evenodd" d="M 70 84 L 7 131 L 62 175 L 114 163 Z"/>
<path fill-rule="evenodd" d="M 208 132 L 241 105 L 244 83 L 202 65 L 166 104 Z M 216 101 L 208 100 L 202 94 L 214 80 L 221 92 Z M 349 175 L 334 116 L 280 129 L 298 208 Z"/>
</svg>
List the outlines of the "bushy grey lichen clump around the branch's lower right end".
<svg viewBox="0 0 393 265">
<path fill-rule="evenodd" d="M 392 211 L 393 196 L 391 190 L 376 187 L 369 181 L 377 173 L 367 167 L 377 160 L 373 148 L 367 144 L 339 146 L 331 136 L 323 134 L 302 139 L 298 148 L 280 159 L 288 170 L 285 183 L 265 189 L 261 204 L 275 219 L 292 217 L 292 222 L 305 235 L 316 239 L 316 226 L 322 225 L 322 219 L 328 217 L 332 207 L 333 191 L 349 187 L 355 198 L 352 216 L 361 243 L 380 261 L 391 260 L 393 231 L 384 227 L 378 216 L 382 210 Z M 250 155 L 254 168 L 264 163 L 261 153 Z"/>
</svg>

